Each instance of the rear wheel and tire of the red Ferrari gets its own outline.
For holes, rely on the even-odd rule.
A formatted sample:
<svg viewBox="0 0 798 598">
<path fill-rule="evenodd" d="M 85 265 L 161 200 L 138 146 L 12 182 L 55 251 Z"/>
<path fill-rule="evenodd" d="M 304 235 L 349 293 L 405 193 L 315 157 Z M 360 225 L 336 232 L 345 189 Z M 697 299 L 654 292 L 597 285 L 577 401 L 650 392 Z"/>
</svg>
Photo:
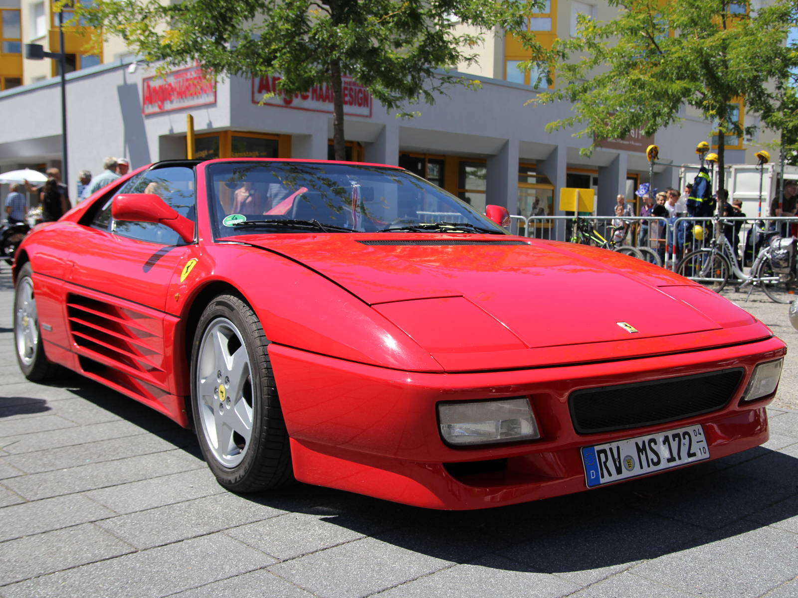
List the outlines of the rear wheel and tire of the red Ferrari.
<svg viewBox="0 0 798 598">
<path fill-rule="evenodd" d="M 44 382 L 56 377 L 61 368 L 45 356 L 36 309 L 33 272 L 28 262 L 17 275 L 17 289 L 14 292 L 14 347 L 17 349 L 17 363 L 22 374 L 31 382 Z"/>
</svg>

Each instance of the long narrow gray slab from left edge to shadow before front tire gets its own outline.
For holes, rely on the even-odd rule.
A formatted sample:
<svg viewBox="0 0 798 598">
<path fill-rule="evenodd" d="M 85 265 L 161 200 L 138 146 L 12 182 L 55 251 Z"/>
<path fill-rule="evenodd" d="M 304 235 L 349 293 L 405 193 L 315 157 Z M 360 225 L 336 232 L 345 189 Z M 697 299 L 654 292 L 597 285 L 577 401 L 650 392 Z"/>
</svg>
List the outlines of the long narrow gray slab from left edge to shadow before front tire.
<svg viewBox="0 0 798 598">
<path fill-rule="evenodd" d="M 12 454 L 0 462 L 23 470 L 27 474 L 39 474 L 76 467 L 87 463 L 116 461 L 120 458 L 135 457 L 142 454 L 161 453 L 173 450 L 175 445 L 152 434 L 124 436 L 124 438 L 99 440 L 72 447 L 37 450 L 32 453 Z"/>
</svg>

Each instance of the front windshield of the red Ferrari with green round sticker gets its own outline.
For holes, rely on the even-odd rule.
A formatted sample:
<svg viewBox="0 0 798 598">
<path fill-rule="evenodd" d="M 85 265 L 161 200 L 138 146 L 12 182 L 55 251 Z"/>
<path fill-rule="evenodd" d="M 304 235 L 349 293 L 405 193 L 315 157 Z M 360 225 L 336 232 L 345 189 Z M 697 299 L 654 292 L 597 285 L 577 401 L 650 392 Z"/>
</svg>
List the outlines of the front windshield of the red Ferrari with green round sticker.
<svg viewBox="0 0 798 598">
<path fill-rule="evenodd" d="M 467 203 L 395 168 L 219 162 L 207 167 L 216 237 L 280 232 L 506 234 Z"/>
</svg>

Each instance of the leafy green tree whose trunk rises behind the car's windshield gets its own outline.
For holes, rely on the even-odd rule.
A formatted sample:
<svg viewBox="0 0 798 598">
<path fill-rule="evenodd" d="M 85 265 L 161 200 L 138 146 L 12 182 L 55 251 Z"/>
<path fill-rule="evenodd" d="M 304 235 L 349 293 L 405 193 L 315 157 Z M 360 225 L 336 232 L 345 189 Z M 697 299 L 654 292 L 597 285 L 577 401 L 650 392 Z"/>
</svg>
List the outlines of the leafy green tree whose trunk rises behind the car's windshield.
<svg viewBox="0 0 798 598">
<path fill-rule="evenodd" d="M 77 6 L 94 43 L 118 35 L 161 71 L 199 61 L 215 76 L 279 73 L 279 92 L 333 92 L 335 159 L 345 159 L 342 77 L 386 109 L 433 104 L 445 71 L 472 64 L 496 27 L 524 27 L 535 0 L 97 0 Z M 460 27 L 458 26 L 468 26 Z M 397 116 L 412 116 L 401 112 Z"/>
</svg>

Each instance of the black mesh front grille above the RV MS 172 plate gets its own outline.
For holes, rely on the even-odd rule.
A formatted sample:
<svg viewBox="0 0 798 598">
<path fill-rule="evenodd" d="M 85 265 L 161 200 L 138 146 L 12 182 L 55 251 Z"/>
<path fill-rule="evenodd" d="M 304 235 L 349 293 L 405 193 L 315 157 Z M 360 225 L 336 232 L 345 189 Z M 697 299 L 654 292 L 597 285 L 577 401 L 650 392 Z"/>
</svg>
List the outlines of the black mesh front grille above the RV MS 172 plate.
<svg viewBox="0 0 798 598">
<path fill-rule="evenodd" d="M 725 407 L 740 386 L 742 368 L 574 391 L 568 397 L 579 434 L 672 422 Z"/>
</svg>

